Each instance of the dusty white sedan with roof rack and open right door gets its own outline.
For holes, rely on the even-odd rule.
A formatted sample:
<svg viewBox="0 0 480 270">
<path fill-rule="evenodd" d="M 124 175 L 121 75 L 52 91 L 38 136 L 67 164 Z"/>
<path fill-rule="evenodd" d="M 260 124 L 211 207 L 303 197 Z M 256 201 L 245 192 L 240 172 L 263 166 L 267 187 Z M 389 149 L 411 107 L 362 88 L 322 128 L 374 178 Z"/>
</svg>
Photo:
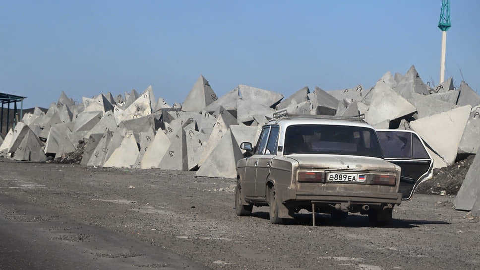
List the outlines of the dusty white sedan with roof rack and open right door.
<svg viewBox="0 0 480 270">
<path fill-rule="evenodd" d="M 269 206 L 270 222 L 301 209 L 344 219 L 348 212 L 388 223 L 392 210 L 432 177 L 433 161 L 413 131 L 378 130 L 361 117 L 283 115 L 268 122 L 255 146 L 242 142 L 237 215 Z"/>
</svg>

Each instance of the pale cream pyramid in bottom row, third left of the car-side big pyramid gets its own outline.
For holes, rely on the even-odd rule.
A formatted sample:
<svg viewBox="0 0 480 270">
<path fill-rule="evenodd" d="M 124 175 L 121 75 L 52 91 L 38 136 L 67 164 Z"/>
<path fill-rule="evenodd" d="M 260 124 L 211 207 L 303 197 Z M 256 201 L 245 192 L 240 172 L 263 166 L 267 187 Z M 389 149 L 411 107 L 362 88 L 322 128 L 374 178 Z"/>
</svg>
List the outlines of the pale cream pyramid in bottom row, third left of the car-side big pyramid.
<svg viewBox="0 0 480 270">
<path fill-rule="evenodd" d="M 135 136 L 128 132 L 121 140 L 112 155 L 105 161 L 103 167 L 131 168 L 138 157 L 138 146 Z"/>
</svg>

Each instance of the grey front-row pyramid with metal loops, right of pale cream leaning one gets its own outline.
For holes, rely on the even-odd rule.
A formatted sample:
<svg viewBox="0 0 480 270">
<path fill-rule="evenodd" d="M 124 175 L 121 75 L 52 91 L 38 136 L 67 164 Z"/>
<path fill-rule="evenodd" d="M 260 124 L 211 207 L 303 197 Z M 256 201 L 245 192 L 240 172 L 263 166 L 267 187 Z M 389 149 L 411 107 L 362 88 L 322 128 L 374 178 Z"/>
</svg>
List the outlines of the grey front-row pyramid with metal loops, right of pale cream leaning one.
<svg viewBox="0 0 480 270">
<path fill-rule="evenodd" d="M 158 167 L 164 170 L 187 170 L 188 156 L 183 129 L 180 129 L 175 136 L 170 138 L 170 146 Z"/>
</svg>

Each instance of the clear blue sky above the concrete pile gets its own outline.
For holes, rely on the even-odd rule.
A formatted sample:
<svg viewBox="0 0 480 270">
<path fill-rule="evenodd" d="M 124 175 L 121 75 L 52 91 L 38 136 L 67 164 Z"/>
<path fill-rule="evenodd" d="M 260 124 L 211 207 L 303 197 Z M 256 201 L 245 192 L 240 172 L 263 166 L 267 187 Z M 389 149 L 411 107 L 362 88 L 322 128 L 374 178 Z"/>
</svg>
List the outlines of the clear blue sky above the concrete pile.
<svg viewBox="0 0 480 270">
<path fill-rule="evenodd" d="M 451 0 L 445 76 L 480 92 L 480 1 Z M 183 102 L 203 74 L 218 96 L 247 84 L 289 96 L 371 87 L 415 65 L 439 82 L 441 0 L 1 1 L 0 92 L 48 107 L 143 91 Z"/>
</svg>

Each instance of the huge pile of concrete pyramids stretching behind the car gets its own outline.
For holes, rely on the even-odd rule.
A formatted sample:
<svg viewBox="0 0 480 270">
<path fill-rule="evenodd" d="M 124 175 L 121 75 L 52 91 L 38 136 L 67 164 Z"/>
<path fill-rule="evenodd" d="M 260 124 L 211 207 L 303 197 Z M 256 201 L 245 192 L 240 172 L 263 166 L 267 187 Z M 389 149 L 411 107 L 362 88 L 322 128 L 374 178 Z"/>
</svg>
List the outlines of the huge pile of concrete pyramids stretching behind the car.
<svg viewBox="0 0 480 270">
<path fill-rule="evenodd" d="M 182 104 L 157 99 L 151 86 L 141 93 L 83 97 L 78 104 L 62 92 L 46 113 L 37 108 L 25 114 L 4 137 L 0 153 L 15 160 L 42 162 L 46 155 L 67 160 L 85 141 L 85 166 L 196 170 L 197 176 L 235 178 L 236 161 L 243 156 L 240 143 L 254 142 L 279 110 L 364 114 L 378 129 L 412 129 L 428 144 L 435 168 L 480 147 L 480 96 L 465 82 L 455 89 L 452 78 L 431 88 L 412 66 L 405 75 L 385 73 L 371 88 L 303 87 L 285 99 L 247 85 L 219 98 L 203 76 Z"/>
</svg>

